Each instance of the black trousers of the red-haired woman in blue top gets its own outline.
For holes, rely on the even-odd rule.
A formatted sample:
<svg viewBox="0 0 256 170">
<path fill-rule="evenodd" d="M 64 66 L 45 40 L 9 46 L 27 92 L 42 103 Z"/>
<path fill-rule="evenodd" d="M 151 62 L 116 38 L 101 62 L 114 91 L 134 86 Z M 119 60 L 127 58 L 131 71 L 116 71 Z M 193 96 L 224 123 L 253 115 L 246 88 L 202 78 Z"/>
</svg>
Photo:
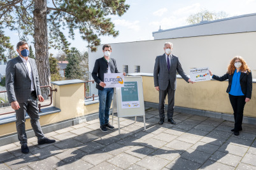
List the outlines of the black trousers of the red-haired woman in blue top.
<svg viewBox="0 0 256 170">
<path fill-rule="evenodd" d="M 245 96 L 232 96 L 229 95 L 232 108 L 234 110 L 234 131 L 242 130 L 243 122 L 243 108 L 245 108 Z"/>
</svg>

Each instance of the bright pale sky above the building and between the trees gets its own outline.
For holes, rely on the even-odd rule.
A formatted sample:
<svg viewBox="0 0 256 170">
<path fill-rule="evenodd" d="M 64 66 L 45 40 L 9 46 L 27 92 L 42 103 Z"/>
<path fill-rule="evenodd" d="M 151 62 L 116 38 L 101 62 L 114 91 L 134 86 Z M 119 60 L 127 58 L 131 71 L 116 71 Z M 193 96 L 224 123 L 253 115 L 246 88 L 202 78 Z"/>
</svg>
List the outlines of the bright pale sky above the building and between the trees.
<svg viewBox="0 0 256 170">
<path fill-rule="evenodd" d="M 161 29 L 171 29 L 187 25 L 190 14 L 201 9 L 210 11 L 225 11 L 229 16 L 256 13 L 256 0 L 127 0 L 130 8 L 122 17 L 110 16 L 119 30 L 118 37 L 101 37 L 101 44 L 152 40 L 152 32 Z M 11 37 L 11 43 L 18 42 L 17 32 L 5 30 Z M 32 39 L 31 39 L 32 40 Z M 69 40 L 72 47 L 80 51 L 87 50 L 87 42 L 80 38 L 76 31 L 75 40 Z M 54 55 L 58 51 L 50 49 Z"/>
</svg>

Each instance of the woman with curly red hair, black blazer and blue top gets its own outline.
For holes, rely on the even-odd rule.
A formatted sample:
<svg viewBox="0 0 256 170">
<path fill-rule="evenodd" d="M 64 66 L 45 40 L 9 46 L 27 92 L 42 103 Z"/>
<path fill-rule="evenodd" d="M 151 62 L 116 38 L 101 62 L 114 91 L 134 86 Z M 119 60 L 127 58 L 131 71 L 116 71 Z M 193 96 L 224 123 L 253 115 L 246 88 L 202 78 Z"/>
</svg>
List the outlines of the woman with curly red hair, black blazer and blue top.
<svg viewBox="0 0 256 170">
<path fill-rule="evenodd" d="M 245 103 L 250 101 L 252 97 L 252 72 L 250 71 L 245 60 L 241 56 L 235 56 L 229 67 L 227 73 L 218 77 L 210 72 L 212 78 L 217 81 L 225 81 L 229 79 L 229 86 L 227 93 L 229 93 L 229 100 L 231 101 L 234 110 L 234 135 L 238 136 L 239 131 L 242 131 L 243 109 Z"/>
</svg>

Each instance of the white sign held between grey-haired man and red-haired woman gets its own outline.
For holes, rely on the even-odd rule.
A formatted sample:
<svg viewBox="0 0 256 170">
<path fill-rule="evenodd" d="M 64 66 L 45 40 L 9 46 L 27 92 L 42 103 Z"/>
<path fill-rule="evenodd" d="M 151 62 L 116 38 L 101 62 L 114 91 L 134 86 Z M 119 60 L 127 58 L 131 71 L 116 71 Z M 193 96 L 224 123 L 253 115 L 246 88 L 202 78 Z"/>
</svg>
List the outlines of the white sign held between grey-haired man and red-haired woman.
<svg viewBox="0 0 256 170">
<path fill-rule="evenodd" d="M 190 80 L 194 82 L 198 81 L 210 81 L 211 76 L 208 67 L 190 69 Z"/>
</svg>

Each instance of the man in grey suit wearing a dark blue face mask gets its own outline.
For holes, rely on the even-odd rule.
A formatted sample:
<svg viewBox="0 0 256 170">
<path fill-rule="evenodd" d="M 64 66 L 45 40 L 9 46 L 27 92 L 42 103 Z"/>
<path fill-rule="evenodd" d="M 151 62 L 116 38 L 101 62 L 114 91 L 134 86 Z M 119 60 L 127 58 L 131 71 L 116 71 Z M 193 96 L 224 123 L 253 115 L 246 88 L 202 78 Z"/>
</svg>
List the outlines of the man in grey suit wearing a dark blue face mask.
<svg viewBox="0 0 256 170">
<path fill-rule="evenodd" d="M 31 126 L 38 137 L 38 144 L 54 143 L 49 140 L 41 130 L 38 114 L 38 101 L 43 101 L 39 86 L 38 70 L 36 62 L 29 58 L 29 46 L 27 42 L 20 41 L 17 44 L 18 55 L 7 63 L 6 66 L 6 91 L 11 108 L 16 112 L 16 128 L 22 153 L 28 154 L 27 135 L 25 133 L 25 114 L 31 118 Z"/>
</svg>

